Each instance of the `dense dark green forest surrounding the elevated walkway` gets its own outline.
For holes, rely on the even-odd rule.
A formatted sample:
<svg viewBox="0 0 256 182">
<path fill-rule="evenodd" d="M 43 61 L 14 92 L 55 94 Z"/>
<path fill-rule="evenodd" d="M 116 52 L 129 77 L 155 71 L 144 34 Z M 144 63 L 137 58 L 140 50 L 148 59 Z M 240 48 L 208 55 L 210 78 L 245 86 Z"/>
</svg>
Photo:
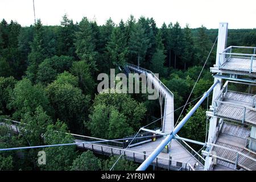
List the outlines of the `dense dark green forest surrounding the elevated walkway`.
<svg viewBox="0 0 256 182">
<path fill-rule="evenodd" d="M 178 22 L 157 27 L 153 18 L 136 20 L 132 15 L 119 24 L 110 18 L 102 26 L 87 18 L 74 23 L 67 15 L 60 26 L 43 26 L 38 19 L 33 26 L 22 27 L 3 19 L 0 115 L 24 125 L 19 135 L 1 125 L 0 148 L 73 143 L 66 132 L 104 139 L 133 136 L 139 127 L 161 117 L 159 101 L 147 100 L 146 94 L 99 94 L 97 75 L 109 74 L 110 68 L 120 72 L 118 66 L 139 60 L 141 67 L 159 73 L 174 93 L 177 109 L 187 101 L 217 33 L 204 26 L 181 28 Z M 229 30 L 230 45 L 256 46 L 256 30 Z M 209 67 L 215 57 L 216 46 L 189 101 L 212 85 Z M 204 141 L 206 109 L 204 102 L 180 135 Z M 175 121 L 180 111 L 175 112 Z M 160 122 L 151 127 L 160 127 Z M 77 151 L 75 146 L 48 147 L 43 149 L 47 164 L 39 166 L 40 150 L 0 152 L 0 170 L 108 170 L 116 160 Z M 114 169 L 136 167 L 121 159 Z"/>
</svg>

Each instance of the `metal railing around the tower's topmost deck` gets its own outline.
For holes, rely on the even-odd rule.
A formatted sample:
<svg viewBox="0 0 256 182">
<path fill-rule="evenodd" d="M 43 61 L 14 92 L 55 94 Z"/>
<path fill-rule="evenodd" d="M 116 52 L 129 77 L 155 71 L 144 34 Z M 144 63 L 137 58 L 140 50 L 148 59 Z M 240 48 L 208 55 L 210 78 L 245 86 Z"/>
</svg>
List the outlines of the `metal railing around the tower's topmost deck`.
<svg viewBox="0 0 256 182">
<path fill-rule="evenodd" d="M 248 71 L 249 73 L 251 73 L 254 70 L 253 61 L 255 61 L 255 56 L 256 56 L 255 51 L 256 51 L 256 47 L 230 46 L 224 49 L 224 51 L 222 51 L 221 53 L 219 53 L 220 56 L 218 57 L 218 68 L 221 69 L 222 66 L 227 61 L 232 59 L 232 57 L 241 58 L 241 59 L 250 59 L 250 68 Z"/>
</svg>

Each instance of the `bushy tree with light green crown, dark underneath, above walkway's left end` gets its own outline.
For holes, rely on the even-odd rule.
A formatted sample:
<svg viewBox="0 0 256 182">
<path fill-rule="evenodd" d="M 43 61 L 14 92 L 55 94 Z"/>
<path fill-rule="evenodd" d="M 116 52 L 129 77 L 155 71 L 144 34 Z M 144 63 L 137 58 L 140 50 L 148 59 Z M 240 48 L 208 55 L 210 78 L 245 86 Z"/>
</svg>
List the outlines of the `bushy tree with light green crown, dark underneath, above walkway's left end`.
<svg viewBox="0 0 256 182">
<path fill-rule="evenodd" d="M 90 96 L 85 96 L 82 94 L 81 89 L 65 83 L 66 74 L 63 73 L 60 76 L 64 84 L 57 80 L 48 85 L 47 94 L 51 105 L 55 109 L 55 120 L 61 119 L 61 121 L 67 123 L 72 131 L 80 131 L 80 126 L 85 119 L 86 110 L 88 109 Z M 73 76 L 69 81 L 73 82 L 72 78 Z"/>
</svg>

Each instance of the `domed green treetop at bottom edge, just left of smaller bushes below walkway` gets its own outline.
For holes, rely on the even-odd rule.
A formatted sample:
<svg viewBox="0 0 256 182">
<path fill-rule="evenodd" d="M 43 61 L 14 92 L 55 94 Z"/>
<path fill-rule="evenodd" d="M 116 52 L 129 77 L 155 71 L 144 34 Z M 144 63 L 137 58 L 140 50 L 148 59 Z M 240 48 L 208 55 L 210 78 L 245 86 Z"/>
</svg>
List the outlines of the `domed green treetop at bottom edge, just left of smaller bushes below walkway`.
<svg viewBox="0 0 256 182">
<path fill-rule="evenodd" d="M 93 155 L 92 151 L 82 152 L 71 166 L 71 171 L 98 171 L 101 169 L 101 161 Z"/>
</svg>

